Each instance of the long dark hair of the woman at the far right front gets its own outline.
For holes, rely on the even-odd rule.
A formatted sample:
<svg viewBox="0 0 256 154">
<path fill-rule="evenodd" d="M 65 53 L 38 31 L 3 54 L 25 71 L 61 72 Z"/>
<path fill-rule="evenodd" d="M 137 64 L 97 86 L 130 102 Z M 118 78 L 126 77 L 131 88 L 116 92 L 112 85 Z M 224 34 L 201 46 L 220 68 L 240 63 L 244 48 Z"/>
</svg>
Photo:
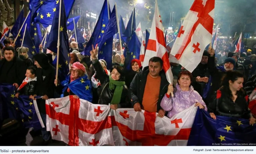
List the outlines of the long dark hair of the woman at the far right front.
<svg viewBox="0 0 256 154">
<path fill-rule="evenodd" d="M 232 92 L 229 88 L 229 80 L 231 80 L 232 83 L 234 83 L 238 78 L 243 78 L 243 74 L 238 71 L 227 71 L 226 75 L 222 81 L 222 87 L 220 90 L 222 93 L 228 94 L 230 98 L 233 100 Z M 237 91 L 236 95 L 245 96 L 246 92 L 243 88 L 241 88 L 239 91 Z"/>
</svg>

